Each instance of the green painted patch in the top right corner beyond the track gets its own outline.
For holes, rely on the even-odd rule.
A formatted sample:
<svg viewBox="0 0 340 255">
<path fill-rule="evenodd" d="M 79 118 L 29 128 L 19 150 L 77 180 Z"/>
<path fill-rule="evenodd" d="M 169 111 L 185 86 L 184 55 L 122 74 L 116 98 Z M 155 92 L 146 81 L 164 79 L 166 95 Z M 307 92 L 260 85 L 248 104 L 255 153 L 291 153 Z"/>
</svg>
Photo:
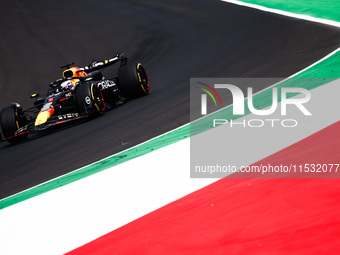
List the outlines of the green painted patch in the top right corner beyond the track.
<svg viewBox="0 0 340 255">
<path fill-rule="evenodd" d="M 339 0 L 239 0 L 267 8 L 304 14 L 315 18 L 340 21 Z"/>
</svg>

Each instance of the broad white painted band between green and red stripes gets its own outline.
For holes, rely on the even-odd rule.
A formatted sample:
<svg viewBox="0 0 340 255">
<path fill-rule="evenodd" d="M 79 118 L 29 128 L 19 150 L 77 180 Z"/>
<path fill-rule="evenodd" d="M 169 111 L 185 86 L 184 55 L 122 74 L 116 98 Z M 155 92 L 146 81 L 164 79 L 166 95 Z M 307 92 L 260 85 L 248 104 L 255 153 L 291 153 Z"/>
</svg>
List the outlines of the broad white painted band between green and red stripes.
<svg viewBox="0 0 340 255">
<path fill-rule="evenodd" d="M 339 89 L 334 82 L 314 89 L 312 98 L 323 98 L 315 100 L 316 108 L 334 107 L 331 104 L 338 101 L 332 97 Z M 276 150 L 325 125 L 313 123 L 307 133 L 299 132 Z M 189 178 L 189 148 L 189 139 L 182 140 L 1 210 L 1 254 L 65 253 L 214 182 Z M 243 156 L 253 156 L 253 147 L 245 141 L 242 148 Z M 260 159 L 247 158 L 242 163 Z"/>
</svg>

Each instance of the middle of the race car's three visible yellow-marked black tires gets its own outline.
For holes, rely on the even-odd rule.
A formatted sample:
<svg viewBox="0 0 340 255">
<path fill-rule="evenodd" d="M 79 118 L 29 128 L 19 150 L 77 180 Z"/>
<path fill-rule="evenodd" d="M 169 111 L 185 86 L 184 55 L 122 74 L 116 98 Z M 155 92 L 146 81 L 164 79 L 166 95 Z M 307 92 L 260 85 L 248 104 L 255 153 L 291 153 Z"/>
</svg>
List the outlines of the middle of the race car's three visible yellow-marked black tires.
<svg viewBox="0 0 340 255">
<path fill-rule="evenodd" d="M 89 118 L 103 114 L 105 101 L 100 89 L 92 83 L 80 84 L 76 87 L 76 102 L 81 113 Z"/>
</svg>

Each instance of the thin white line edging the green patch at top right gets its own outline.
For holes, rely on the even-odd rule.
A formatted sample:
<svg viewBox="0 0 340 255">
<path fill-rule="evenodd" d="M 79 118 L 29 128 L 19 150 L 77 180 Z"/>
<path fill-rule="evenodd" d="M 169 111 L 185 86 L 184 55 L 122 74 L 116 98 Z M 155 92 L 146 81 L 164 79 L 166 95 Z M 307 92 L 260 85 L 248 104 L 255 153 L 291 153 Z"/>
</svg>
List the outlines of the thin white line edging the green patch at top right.
<svg viewBox="0 0 340 255">
<path fill-rule="evenodd" d="M 245 2 L 241 2 L 237 0 L 221 0 L 221 1 L 226 2 L 226 3 L 240 5 L 240 6 L 245 6 L 245 7 L 249 7 L 249 8 L 265 11 L 265 12 L 276 13 L 276 14 L 291 17 L 291 18 L 307 20 L 307 21 L 321 23 L 321 24 L 334 26 L 334 27 L 340 27 L 340 22 L 337 22 L 337 21 L 315 18 L 312 16 L 304 15 L 304 14 L 296 14 L 296 13 L 291 13 L 287 11 L 281 11 L 281 10 L 268 8 L 268 7 L 264 7 L 264 6 L 257 5 L 257 4 L 245 3 Z"/>
</svg>

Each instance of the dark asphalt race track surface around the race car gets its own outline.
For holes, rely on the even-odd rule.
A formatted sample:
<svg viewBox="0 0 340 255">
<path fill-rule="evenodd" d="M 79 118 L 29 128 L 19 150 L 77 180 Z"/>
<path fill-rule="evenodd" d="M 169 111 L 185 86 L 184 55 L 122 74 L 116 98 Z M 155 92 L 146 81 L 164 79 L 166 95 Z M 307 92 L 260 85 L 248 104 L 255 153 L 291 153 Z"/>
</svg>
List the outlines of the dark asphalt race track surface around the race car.
<svg viewBox="0 0 340 255">
<path fill-rule="evenodd" d="M 340 46 L 337 28 L 218 0 L 5 0 L 0 20 L 1 108 L 30 106 L 64 63 L 121 52 L 151 84 L 149 96 L 100 118 L 1 143 L 0 198 L 188 123 L 190 77 L 287 77 Z"/>
</svg>

